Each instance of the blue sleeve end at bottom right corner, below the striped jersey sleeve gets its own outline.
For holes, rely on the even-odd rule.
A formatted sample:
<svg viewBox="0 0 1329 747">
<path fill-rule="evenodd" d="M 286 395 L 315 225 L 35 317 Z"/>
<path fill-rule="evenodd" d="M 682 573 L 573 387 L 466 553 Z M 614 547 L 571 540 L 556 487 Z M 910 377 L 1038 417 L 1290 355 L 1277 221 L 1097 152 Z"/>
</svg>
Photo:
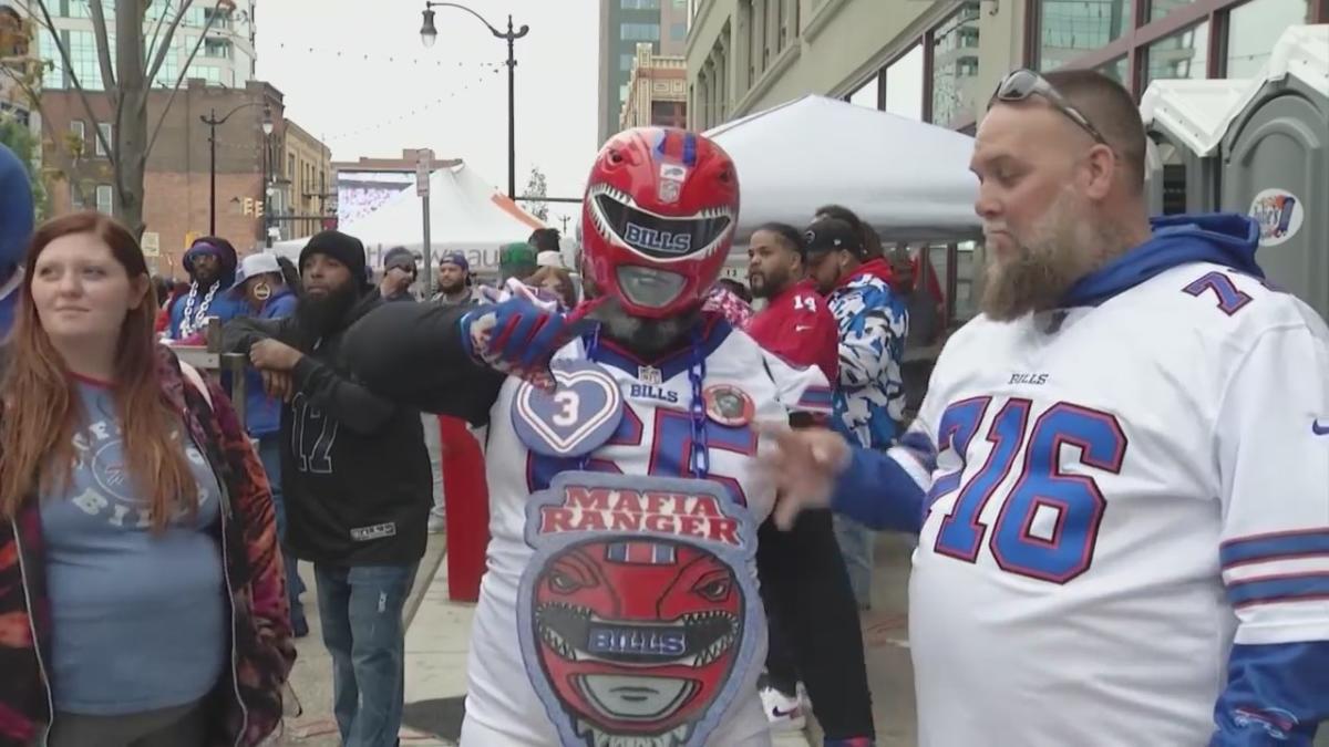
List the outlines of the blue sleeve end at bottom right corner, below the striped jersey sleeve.
<svg viewBox="0 0 1329 747">
<path fill-rule="evenodd" d="M 1329 641 L 1235 645 L 1209 747 L 1310 747 L 1329 720 Z"/>
</svg>

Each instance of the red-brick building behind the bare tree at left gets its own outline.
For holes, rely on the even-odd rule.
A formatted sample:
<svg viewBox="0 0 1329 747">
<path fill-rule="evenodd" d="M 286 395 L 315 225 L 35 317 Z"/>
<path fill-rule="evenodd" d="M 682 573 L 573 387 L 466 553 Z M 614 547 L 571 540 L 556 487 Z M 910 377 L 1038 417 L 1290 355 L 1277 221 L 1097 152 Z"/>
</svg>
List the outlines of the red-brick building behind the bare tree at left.
<svg viewBox="0 0 1329 747">
<path fill-rule="evenodd" d="M 84 207 L 114 211 L 110 161 L 93 129 L 102 128 L 110 134 L 106 122 L 114 117 L 105 94 L 89 92 L 88 98 L 96 122 L 89 121 L 77 92 L 43 92 L 49 132 L 68 133 L 60 144 L 49 137 L 43 142 L 44 162 L 58 171 L 48 183 L 56 215 Z M 179 258 L 189 242 L 209 231 L 210 128 L 201 117 L 226 118 L 217 128 L 217 234 L 242 254 L 264 243 L 263 179 L 264 174 L 275 179 L 282 167 L 280 160 L 270 154 L 284 152 L 287 122 L 282 93 L 266 82 L 250 81 L 242 89 L 225 89 L 191 78 L 175 93 L 174 101 L 170 101 L 170 92 L 150 93 L 149 137 L 167 102 L 170 109 L 144 177 L 144 245 L 155 271 L 182 275 Z M 264 105 L 274 124 L 270 137 L 262 128 Z M 272 191 L 275 195 L 276 190 Z"/>
</svg>

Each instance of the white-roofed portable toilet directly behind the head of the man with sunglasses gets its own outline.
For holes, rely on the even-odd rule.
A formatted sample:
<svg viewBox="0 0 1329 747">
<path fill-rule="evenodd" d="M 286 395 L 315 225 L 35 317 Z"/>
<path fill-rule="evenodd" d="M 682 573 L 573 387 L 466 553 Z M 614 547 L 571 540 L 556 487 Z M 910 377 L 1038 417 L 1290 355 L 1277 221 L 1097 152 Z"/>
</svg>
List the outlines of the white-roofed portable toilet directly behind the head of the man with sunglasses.
<svg viewBox="0 0 1329 747">
<path fill-rule="evenodd" d="M 1251 80 L 1156 80 L 1140 98 L 1148 134 L 1150 211 L 1213 213 L 1223 162 L 1219 146 L 1253 88 Z"/>
</svg>

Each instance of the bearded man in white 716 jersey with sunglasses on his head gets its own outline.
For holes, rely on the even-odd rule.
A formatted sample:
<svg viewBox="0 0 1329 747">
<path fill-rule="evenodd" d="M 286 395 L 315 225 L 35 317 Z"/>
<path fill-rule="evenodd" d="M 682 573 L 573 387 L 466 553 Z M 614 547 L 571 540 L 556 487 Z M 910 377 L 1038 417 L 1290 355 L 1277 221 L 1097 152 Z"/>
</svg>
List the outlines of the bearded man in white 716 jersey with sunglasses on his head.
<svg viewBox="0 0 1329 747">
<path fill-rule="evenodd" d="M 789 432 L 777 520 L 918 533 L 918 743 L 1304 744 L 1329 719 L 1329 330 L 1245 215 L 1148 217 L 1135 101 L 1009 74 L 989 251 L 886 453 Z"/>
</svg>

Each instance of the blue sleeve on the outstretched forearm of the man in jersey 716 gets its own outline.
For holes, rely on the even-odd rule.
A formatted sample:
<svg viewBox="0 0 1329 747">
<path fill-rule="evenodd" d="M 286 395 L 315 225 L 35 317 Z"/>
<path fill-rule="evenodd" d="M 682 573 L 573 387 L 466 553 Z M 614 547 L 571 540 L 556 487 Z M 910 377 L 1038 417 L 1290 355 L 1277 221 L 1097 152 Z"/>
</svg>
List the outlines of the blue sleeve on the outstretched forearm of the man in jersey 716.
<svg viewBox="0 0 1329 747">
<path fill-rule="evenodd" d="M 917 534 L 924 489 L 886 452 L 851 447 L 849 465 L 831 494 L 831 510 L 873 529 Z"/>
</svg>

